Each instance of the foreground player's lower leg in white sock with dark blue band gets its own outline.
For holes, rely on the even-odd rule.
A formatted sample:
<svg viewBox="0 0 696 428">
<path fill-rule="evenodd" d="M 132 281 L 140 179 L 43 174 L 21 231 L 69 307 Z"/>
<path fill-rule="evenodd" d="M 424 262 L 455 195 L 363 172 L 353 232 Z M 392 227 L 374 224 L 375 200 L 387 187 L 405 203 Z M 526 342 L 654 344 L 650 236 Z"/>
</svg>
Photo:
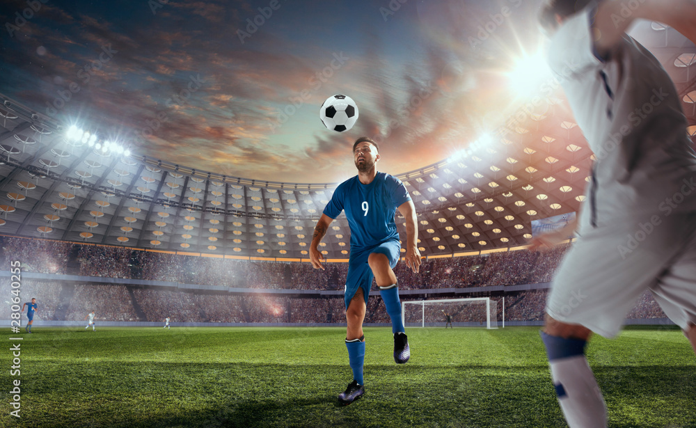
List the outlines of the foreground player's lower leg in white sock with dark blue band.
<svg viewBox="0 0 696 428">
<path fill-rule="evenodd" d="M 558 403 L 569 427 L 606 427 L 607 413 L 602 393 L 585 358 L 585 344 L 592 332 L 546 315 L 541 338 Z"/>
</svg>

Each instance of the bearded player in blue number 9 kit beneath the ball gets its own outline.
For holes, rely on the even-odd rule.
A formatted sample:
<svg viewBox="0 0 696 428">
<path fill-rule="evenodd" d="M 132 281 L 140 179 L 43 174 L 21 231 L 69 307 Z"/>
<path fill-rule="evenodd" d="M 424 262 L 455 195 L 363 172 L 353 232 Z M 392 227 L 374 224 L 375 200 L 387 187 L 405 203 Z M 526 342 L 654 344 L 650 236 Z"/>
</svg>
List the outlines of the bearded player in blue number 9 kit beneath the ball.
<svg viewBox="0 0 696 428">
<path fill-rule="evenodd" d="M 418 228 L 416 207 L 404 184 L 386 173 L 378 173 L 379 147 L 372 139 L 358 138 L 353 145 L 353 157 L 358 175 L 339 184 L 315 228 L 310 245 L 310 260 L 315 269 L 324 269 L 326 259 L 319 252 L 329 225 L 345 211 L 351 230 L 350 257 L 345 285 L 345 307 L 348 328 L 346 347 L 353 371 L 353 381 L 338 396 L 341 404 L 351 404 L 365 393 L 363 386 L 363 361 L 365 360 L 365 335 L 363 319 L 370 295 L 372 280 L 376 280 L 384 306 L 392 322 L 394 333 L 394 360 L 406 363 L 411 357 L 409 340 L 404 333 L 401 301 L 393 268 L 396 266 L 401 244 L 394 215 L 396 210 L 406 222 L 406 265 L 418 272 Z"/>
</svg>

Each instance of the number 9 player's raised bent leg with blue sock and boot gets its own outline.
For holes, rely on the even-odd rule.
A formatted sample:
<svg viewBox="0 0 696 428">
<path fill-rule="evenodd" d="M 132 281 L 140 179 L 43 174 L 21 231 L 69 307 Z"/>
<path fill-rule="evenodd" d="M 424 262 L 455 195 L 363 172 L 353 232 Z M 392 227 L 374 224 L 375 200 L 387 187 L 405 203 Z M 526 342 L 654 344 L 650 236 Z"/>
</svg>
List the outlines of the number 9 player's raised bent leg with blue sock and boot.
<svg viewBox="0 0 696 428">
<path fill-rule="evenodd" d="M 382 296 L 384 306 L 392 322 L 392 333 L 394 334 L 394 360 L 397 364 L 406 363 L 411 358 L 411 348 L 409 339 L 406 337 L 406 329 L 401 315 L 401 301 L 399 300 L 399 289 L 396 285 L 396 275 L 389 266 L 389 259 L 382 253 L 372 253 L 367 257 L 367 264 L 372 269 L 374 280 L 379 287 L 379 294 Z"/>
</svg>

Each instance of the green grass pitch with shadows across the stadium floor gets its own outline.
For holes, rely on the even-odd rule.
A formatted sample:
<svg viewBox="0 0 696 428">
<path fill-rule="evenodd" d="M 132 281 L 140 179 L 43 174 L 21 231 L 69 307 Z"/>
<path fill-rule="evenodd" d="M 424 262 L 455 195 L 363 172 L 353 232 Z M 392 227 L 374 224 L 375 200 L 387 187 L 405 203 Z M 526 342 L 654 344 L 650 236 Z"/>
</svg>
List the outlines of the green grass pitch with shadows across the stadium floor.
<svg viewBox="0 0 696 428">
<path fill-rule="evenodd" d="M 21 420 L 2 427 L 564 427 L 538 328 L 366 328 L 365 396 L 343 328 L 34 328 L 24 334 Z M 8 344 L 8 342 L 6 342 Z M 611 427 L 696 427 L 696 357 L 673 328 L 628 328 L 588 350 Z"/>
</svg>

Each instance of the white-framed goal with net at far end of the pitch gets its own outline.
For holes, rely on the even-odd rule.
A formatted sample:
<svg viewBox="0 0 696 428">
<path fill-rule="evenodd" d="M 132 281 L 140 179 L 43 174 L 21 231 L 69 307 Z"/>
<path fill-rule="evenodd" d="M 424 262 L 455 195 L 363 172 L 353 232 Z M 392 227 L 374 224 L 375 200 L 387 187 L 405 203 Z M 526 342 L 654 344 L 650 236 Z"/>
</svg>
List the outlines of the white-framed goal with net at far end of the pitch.
<svg viewBox="0 0 696 428">
<path fill-rule="evenodd" d="M 489 297 L 402 300 L 401 307 L 404 326 L 444 326 L 449 314 L 452 326 L 498 328 L 498 301 Z"/>
</svg>

